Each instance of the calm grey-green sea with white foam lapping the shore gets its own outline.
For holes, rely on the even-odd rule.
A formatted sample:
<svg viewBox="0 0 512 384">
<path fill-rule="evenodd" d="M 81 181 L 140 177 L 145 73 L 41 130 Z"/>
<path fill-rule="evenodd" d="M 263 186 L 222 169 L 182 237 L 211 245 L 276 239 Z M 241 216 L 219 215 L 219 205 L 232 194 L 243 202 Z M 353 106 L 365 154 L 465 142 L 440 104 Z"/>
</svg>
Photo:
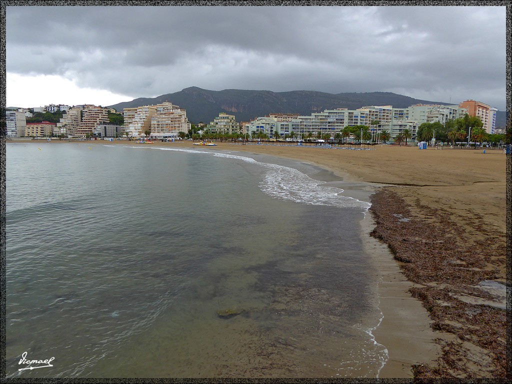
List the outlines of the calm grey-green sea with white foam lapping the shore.
<svg viewBox="0 0 512 384">
<path fill-rule="evenodd" d="M 8 377 L 378 375 L 367 202 L 303 163 L 136 145 L 7 144 Z"/>
</svg>

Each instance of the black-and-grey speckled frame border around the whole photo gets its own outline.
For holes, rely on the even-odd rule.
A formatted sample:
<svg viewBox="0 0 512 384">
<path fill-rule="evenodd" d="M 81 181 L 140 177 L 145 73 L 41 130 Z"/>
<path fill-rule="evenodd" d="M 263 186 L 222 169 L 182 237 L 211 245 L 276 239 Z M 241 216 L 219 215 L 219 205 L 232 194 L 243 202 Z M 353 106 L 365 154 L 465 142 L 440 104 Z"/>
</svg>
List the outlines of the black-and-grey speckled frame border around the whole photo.
<svg viewBox="0 0 512 384">
<path fill-rule="evenodd" d="M 2 1 L 0 16 L 1 16 L 1 41 L 0 47 L 2 53 L 2 66 L 0 67 L 0 86 L 2 93 L 0 96 L 0 106 L 2 107 L 2 116 L 0 116 L 0 122 L 2 126 L 2 133 L 0 135 L 0 165 L 1 165 L 1 177 L 0 177 L 0 227 L 1 227 L 1 312 L 0 317 L 2 320 L 1 327 L 1 338 L 0 346 L 1 353 L 0 358 L 0 380 L 2 382 L 27 382 L 27 383 L 72 383 L 72 382 L 112 382 L 112 383 L 160 383 L 160 382 L 176 382 L 176 383 L 266 383 L 266 382 L 279 382 L 279 383 L 303 383 L 303 382 L 314 382 L 314 383 L 406 383 L 411 382 L 409 379 L 343 379 L 343 378 L 318 378 L 318 379 L 291 379 L 291 378 L 271 378 L 271 379 L 196 379 L 196 378 L 185 378 L 185 379 L 43 379 L 43 378 L 16 378 L 6 379 L 6 120 L 5 120 L 5 108 L 6 105 L 6 6 L 506 6 L 506 130 L 510 132 L 512 130 L 510 121 L 510 34 L 512 33 L 510 28 L 510 11 L 511 2 L 508 1 L 329 1 L 329 0 L 311 0 L 311 1 Z M 476 27 L 477 28 L 477 27 Z M 467 47 L 471 49 L 471 47 Z M 510 212 L 512 211 L 512 154 L 506 155 L 506 245 L 507 254 L 512 253 L 512 220 L 510 218 Z M 510 269 L 510 257 L 507 258 L 506 263 L 506 275 L 507 275 L 507 344 L 510 346 L 512 343 L 510 324 L 512 323 L 510 305 L 511 305 L 511 289 L 512 275 Z M 510 367 L 512 361 L 512 349 L 507 350 L 507 365 Z M 442 382 L 430 381 L 430 382 Z M 463 382 L 471 383 L 496 383 L 496 379 L 471 379 Z M 504 381 L 503 381 L 504 382 Z"/>
</svg>

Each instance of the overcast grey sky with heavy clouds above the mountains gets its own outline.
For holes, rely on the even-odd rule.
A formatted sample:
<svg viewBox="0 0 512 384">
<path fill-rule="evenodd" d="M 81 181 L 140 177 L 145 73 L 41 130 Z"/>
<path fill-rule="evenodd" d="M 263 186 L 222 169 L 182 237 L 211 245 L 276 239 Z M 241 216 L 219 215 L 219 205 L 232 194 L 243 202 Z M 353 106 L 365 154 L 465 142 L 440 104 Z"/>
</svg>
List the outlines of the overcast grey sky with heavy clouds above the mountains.
<svg viewBox="0 0 512 384">
<path fill-rule="evenodd" d="M 505 25 L 492 6 L 7 7 L 7 106 L 105 106 L 196 86 L 504 111 Z"/>
</svg>

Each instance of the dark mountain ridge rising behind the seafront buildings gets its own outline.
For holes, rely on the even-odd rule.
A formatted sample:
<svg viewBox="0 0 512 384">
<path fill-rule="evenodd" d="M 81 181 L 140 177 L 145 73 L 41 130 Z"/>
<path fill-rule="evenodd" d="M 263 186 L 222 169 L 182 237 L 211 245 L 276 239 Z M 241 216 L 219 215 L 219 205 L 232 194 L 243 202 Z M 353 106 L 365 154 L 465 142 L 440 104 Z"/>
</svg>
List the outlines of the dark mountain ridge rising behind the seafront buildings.
<svg viewBox="0 0 512 384">
<path fill-rule="evenodd" d="M 368 105 L 392 105 L 394 108 L 407 108 L 413 104 L 449 104 L 442 101 L 415 99 L 391 92 L 338 93 L 317 91 L 251 91 L 227 89 L 209 91 L 198 87 L 185 88 L 180 92 L 169 93 L 154 98 L 137 98 L 132 101 L 110 105 L 118 112 L 124 108 L 142 105 L 155 105 L 163 101 L 172 102 L 187 111 L 193 123 L 209 123 L 220 112 L 236 116 L 237 121 L 249 121 L 270 113 L 296 113 L 310 116 L 314 112 L 328 109 L 347 108 L 355 110 Z M 496 126 L 505 125 L 505 112 L 498 111 Z"/>
</svg>

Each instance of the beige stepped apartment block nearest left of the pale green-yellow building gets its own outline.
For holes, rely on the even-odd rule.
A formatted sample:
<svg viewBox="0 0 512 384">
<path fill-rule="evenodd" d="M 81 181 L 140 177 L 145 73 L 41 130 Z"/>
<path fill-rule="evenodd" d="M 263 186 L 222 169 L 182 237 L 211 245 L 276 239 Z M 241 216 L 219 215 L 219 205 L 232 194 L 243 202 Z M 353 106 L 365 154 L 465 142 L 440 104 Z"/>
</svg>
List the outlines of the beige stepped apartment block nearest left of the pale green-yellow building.
<svg viewBox="0 0 512 384">
<path fill-rule="evenodd" d="M 186 110 L 169 101 L 156 105 L 156 113 L 151 117 L 151 137 L 164 139 L 178 136 L 178 132 L 188 132 L 191 124 L 188 122 Z"/>
</svg>

